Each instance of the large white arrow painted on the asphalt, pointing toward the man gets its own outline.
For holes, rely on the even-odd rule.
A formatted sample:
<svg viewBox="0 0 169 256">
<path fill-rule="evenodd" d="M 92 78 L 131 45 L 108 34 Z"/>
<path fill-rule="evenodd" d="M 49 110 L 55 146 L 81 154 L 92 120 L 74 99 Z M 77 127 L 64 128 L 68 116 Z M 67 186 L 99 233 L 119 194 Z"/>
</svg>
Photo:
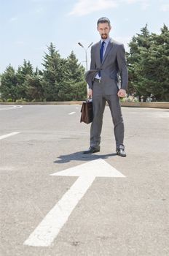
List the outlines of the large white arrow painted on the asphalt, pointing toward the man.
<svg viewBox="0 0 169 256">
<path fill-rule="evenodd" d="M 51 176 L 79 176 L 68 192 L 52 208 L 33 233 L 24 242 L 29 246 L 50 246 L 67 222 L 69 215 L 93 184 L 95 177 L 125 177 L 103 159 L 93 160 L 67 170 L 53 173 Z"/>
</svg>

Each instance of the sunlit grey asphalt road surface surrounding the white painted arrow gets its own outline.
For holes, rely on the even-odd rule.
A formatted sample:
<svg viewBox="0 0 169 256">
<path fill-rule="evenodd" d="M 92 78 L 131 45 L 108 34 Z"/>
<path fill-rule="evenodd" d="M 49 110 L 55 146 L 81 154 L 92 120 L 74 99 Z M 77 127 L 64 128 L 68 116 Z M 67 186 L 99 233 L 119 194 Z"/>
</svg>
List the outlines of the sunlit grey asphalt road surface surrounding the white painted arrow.
<svg viewBox="0 0 169 256">
<path fill-rule="evenodd" d="M 90 125 L 80 108 L 0 105 L 0 255 L 169 255 L 169 110 L 122 108 L 127 157 L 118 157 L 108 107 L 101 152 L 82 154 Z M 96 177 L 50 246 L 25 245 L 77 179 L 50 174 L 97 159 L 125 178 Z"/>
</svg>

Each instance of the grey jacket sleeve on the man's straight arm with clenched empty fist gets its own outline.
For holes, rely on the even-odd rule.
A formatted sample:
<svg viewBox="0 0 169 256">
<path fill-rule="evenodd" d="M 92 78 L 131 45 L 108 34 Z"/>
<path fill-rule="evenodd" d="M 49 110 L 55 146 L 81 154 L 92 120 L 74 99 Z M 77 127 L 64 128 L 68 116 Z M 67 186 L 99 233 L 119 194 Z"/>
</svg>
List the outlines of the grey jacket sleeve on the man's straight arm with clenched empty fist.
<svg viewBox="0 0 169 256">
<path fill-rule="evenodd" d="M 127 91 L 128 70 L 127 70 L 127 62 L 126 62 L 126 58 L 125 58 L 124 45 L 118 45 L 117 64 L 119 67 L 119 75 L 121 78 L 121 89 L 125 89 Z"/>
</svg>

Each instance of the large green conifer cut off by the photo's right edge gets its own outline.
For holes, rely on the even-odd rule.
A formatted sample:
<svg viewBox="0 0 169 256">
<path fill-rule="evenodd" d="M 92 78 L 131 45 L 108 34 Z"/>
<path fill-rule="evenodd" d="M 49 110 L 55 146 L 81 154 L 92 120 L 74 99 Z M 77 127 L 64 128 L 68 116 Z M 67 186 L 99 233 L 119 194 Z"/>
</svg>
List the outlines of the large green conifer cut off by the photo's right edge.
<svg viewBox="0 0 169 256">
<path fill-rule="evenodd" d="M 142 72 L 140 83 L 146 85 L 146 93 L 158 101 L 169 101 L 169 31 L 163 26 L 161 34 L 152 34 L 152 45 L 141 52 Z"/>
</svg>

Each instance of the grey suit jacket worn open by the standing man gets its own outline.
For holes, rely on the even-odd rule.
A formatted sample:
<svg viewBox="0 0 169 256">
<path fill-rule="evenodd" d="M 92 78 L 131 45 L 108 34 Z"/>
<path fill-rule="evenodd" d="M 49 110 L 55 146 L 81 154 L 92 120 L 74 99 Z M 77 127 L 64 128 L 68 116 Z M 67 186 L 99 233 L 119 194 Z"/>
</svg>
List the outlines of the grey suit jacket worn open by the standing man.
<svg viewBox="0 0 169 256">
<path fill-rule="evenodd" d="M 100 44 L 101 41 L 95 43 L 91 48 L 90 70 L 85 74 L 89 88 L 93 89 L 95 95 L 117 94 L 119 88 L 127 90 L 128 72 L 124 46 L 110 39 L 101 63 Z M 95 75 L 99 70 L 101 70 L 102 88 L 100 83 L 95 83 L 93 86 Z"/>
</svg>

